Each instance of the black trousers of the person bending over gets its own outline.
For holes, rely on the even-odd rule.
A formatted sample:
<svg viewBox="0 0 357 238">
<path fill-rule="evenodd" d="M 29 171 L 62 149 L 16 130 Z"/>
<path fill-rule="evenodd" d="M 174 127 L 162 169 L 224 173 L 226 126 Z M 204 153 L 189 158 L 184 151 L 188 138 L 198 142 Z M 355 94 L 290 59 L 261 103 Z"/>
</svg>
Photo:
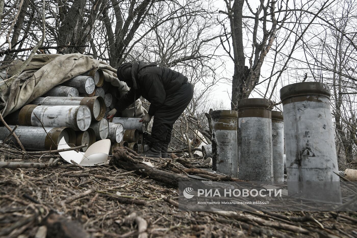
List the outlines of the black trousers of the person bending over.
<svg viewBox="0 0 357 238">
<path fill-rule="evenodd" d="M 151 143 L 170 143 L 172 126 L 190 104 L 192 96 L 193 87 L 188 82 L 175 93 L 166 95 L 164 104 L 154 115 L 151 138 L 149 139 Z"/>
</svg>

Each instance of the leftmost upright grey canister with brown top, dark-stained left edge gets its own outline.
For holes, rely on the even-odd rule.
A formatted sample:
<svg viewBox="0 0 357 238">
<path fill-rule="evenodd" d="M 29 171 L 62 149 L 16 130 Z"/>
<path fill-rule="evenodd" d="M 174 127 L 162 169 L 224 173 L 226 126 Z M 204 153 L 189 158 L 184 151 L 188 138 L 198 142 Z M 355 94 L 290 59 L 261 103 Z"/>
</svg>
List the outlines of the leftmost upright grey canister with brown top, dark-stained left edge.
<svg viewBox="0 0 357 238">
<path fill-rule="evenodd" d="M 212 111 L 212 168 L 238 177 L 237 111 Z"/>
</svg>

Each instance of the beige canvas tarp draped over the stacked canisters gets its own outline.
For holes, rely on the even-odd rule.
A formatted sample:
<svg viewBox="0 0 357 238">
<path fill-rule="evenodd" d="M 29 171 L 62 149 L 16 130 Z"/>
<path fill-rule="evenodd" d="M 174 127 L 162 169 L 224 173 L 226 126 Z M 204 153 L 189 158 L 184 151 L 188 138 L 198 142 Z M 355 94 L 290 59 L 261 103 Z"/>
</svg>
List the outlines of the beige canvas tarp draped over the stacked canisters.
<svg viewBox="0 0 357 238">
<path fill-rule="evenodd" d="M 7 74 L 13 75 L 22 61 L 14 61 L 7 69 Z M 116 78 L 116 69 L 105 61 L 96 60 L 83 54 L 39 54 L 35 55 L 25 70 L 12 82 L 9 89 L 5 89 L 0 98 L 0 110 L 3 116 L 20 109 L 35 98 L 47 93 L 54 86 L 59 85 L 77 75 L 84 74 L 91 69 L 102 69 L 104 80 L 119 87 L 120 95 L 129 91 L 129 87 Z M 135 103 L 136 117 L 147 113 L 142 107 L 140 99 Z M 134 106 L 131 105 L 131 106 Z M 134 108 L 126 109 L 122 116 L 133 117 Z"/>
</svg>

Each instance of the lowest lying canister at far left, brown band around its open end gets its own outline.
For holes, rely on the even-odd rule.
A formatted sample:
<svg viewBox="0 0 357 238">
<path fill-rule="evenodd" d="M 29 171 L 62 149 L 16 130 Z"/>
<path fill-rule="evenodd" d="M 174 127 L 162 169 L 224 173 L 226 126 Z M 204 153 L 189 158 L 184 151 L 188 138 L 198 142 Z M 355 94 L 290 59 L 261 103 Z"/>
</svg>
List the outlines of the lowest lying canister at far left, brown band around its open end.
<svg viewBox="0 0 357 238">
<path fill-rule="evenodd" d="M 14 129 L 15 126 L 9 125 L 9 127 Z M 0 127 L 0 140 L 4 140 L 9 134 L 6 127 Z M 22 145 L 31 150 L 56 150 L 62 137 L 70 146 L 74 146 L 76 142 L 76 134 L 69 127 L 45 127 L 44 129 L 43 127 L 17 126 L 16 135 Z M 13 136 L 10 137 L 10 140 L 16 144 Z"/>
</svg>

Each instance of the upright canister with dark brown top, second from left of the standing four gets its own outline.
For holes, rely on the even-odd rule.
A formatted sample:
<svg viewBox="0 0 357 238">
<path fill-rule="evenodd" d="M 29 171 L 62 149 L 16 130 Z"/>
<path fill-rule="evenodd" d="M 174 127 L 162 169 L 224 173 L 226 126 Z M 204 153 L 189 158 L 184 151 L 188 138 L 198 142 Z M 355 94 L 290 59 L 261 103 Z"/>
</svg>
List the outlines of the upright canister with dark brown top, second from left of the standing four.
<svg viewBox="0 0 357 238">
<path fill-rule="evenodd" d="M 237 109 L 239 179 L 273 181 L 271 101 L 242 99 Z"/>
</svg>

